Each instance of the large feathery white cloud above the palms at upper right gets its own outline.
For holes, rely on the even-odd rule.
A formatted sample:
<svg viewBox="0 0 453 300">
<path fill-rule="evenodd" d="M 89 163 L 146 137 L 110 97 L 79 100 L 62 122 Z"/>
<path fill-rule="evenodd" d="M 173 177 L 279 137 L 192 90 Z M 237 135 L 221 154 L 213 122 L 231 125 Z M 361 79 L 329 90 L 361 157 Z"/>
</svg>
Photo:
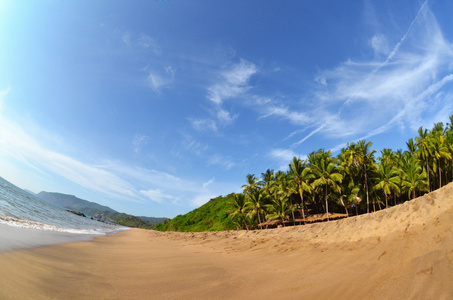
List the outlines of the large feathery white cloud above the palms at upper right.
<svg viewBox="0 0 453 300">
<path fill-rule="evenodd" d="M 453 46 L 442 35 L 427 2 L 393 48 L 388 45 L 388 34 L 392 33 L 376 34 L 370 41 L 379 54 L 374 59 L 386 55 L 384 61 L 350 59 L 320 72 L 317 80 L 321 85 L 313 94 L 317 105 L 307 103 L 303 112 L 310 116 L 307 124 L 315 129 L 294 146 L 313 134 L 371 137 L 395 126 L 412 128 L 411 124 L 420 124 L 427 110 L 444 109 L 448 94 L 436 101 L 432 97 L 451 84 Z M 266 116 L 282 116 L 293 124 L 303 120 L 303 115 L 291 117 L 286 107 L 267 109 Z"/>
</svg>

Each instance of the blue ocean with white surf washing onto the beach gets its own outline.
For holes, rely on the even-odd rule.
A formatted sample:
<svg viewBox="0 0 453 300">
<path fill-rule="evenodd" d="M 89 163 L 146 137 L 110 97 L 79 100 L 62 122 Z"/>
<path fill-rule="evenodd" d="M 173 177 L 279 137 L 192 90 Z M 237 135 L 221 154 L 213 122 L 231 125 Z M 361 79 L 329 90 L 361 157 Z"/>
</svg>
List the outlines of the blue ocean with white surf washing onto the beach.
<svg viewBox="0 0 453 300">
<path fill-rule="evenodd" d="M 0 252 L 90 240 L 127 230 L 77 216 L 0 177 Z"/>
</svg>

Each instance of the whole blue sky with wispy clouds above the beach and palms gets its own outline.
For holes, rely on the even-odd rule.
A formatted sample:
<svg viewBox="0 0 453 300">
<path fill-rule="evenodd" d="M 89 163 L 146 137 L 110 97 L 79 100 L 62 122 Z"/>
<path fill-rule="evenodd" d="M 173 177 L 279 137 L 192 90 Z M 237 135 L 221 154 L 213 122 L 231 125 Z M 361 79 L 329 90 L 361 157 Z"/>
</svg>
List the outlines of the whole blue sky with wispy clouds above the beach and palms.
<svg viewBox="0 0 453 300">
<path fill-rule="evenodd" d="M 174 217 L 453 114 L 453 2 L 0 1 L 0 176 Z"/>
</svg>

